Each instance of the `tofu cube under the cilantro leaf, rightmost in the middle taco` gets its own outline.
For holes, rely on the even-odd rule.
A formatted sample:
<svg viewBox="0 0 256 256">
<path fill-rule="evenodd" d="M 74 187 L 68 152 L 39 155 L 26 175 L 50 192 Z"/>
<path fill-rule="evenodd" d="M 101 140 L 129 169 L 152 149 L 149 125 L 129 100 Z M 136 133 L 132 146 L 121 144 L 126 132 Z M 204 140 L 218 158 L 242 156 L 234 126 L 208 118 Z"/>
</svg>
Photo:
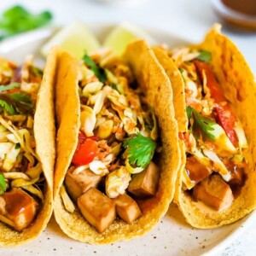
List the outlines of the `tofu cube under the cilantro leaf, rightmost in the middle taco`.
<svg viewBox="0 0 256 256">
<path fill-rule="evenodd" d="M 128 191 L 137 197 L 155 195 L 159 178 L 160 170 L 154 162 L 151 161 L 143 172 L 132 176 Z"/>
</svg>

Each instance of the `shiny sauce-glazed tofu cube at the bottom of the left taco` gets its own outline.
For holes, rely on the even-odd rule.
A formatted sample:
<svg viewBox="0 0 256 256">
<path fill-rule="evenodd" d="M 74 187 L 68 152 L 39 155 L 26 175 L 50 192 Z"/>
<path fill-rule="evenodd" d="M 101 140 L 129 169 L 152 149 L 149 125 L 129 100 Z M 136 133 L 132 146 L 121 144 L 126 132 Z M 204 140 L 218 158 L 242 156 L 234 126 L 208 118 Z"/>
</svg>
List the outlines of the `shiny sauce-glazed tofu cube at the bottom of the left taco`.
<svg viewBox="0 0 256 256">
<path fill-rule="evenodd" d="M 18 231 L 31 224 L 38 211 L 38 202 L 22 189 L 1 195 L 0 204 L 0 219 Z"/>
</svg>

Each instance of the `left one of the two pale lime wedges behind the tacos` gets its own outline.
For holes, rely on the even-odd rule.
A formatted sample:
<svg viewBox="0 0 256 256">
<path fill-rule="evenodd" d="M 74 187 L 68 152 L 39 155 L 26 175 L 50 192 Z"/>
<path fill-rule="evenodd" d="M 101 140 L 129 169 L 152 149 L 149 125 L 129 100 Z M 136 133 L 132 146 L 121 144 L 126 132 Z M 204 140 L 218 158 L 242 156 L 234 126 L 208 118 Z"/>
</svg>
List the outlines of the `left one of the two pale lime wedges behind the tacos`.
<svg viewBox="0 0 256 256">
<path fill-rule="evenodd" d="M 50 38 L 42 47 L 41 54 L 46 56 L 54 45 L 59 45 L 61 49 L 67 50 L 78 59 L 83 57 L 85 50 L 90 53 L 101 47 L 96 37 L 79 21 L 64 26 Z"/>
</svg>

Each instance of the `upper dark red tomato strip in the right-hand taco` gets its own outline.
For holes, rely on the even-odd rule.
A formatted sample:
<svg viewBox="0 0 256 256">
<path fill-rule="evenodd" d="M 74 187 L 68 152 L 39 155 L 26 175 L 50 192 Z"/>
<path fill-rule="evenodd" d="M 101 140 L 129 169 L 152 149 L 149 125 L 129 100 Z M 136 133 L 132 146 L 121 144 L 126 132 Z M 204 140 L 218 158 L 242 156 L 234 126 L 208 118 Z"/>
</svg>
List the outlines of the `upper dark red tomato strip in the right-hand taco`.
<svg viewBox="0 0 256 256">
<path fill-rule="evenodd" d="M 214 73 L 212 73 L 212 68 L 210 65 L 204 61 L 194 60 L 193 62 L 195 63 L 195 67 L 197 68 L 201 81 L 203 80 L 203 72 L 205 73 L 207 77 L 207 87 L 209 88 L 211 96 L 215 102 L 226 102 L 222 90 L 215 79 Z"/>
</svg>

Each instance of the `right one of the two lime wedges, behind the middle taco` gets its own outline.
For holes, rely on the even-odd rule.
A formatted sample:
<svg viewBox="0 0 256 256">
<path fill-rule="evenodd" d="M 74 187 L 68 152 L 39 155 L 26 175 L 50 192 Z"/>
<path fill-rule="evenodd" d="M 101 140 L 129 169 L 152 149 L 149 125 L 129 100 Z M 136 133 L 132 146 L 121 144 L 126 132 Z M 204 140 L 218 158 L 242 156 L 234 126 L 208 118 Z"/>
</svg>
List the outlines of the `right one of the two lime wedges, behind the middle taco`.
<svg viewBox="0 0 256 256">
<path fill-rule="evenodd" d="M 147 32 L 125 22 L 113 28 L 105 39 L 103 46 L 113 49 L 116 55 L 122 55 L 126 46 L 137 39 L 145 39 L 151 45 L 156 44 L 154 38 L 151 38 Z"/>
</svg>

